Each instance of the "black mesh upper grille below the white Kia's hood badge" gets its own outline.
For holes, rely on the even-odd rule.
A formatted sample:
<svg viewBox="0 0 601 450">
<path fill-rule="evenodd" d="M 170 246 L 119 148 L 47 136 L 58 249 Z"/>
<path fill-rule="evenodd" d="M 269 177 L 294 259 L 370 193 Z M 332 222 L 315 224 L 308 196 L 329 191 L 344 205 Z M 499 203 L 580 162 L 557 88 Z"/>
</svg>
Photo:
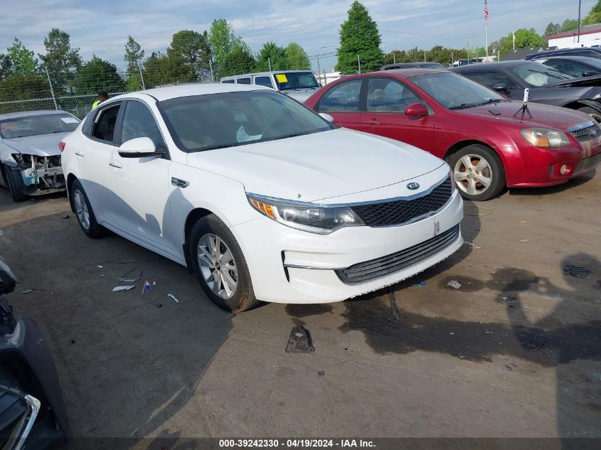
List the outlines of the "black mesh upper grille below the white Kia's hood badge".
<svg viewBox="0 0 601 450">
<path fill-rule="evenodd" d="M 411 200 L 393 200 L 382 203 L 353 206 L 353 210 L 368 227 L 402 225 L 442 208 L 451 198 L 451 177 L 436 186 L 430 193 Z"/>
</svg>

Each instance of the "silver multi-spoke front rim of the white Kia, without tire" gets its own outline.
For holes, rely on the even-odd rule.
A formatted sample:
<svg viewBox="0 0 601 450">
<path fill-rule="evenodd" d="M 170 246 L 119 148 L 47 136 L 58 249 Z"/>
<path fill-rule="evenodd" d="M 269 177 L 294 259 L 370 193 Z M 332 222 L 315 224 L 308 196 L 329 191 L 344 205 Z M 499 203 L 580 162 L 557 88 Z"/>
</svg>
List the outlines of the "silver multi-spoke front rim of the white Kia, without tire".
<svg viewBox="0 0 601 450">
<path fill-rule="evenodd" d="M 211 233 L 198 241 L 198 264 L 209 289 L 222 299 L 231 299 L 238 289 L 238 268 L 225 242 Z"/>
</svg>

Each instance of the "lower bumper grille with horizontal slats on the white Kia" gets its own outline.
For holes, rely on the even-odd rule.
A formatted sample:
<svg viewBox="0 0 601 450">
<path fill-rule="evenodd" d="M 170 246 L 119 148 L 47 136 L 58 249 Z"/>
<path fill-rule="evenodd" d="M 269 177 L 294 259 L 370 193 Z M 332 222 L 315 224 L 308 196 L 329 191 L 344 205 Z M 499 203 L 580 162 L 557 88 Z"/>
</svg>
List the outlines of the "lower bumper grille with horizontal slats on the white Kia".
<svg viewBox="0 0 601 450">
<path fill-rule="evenodd" d="M 459 224 L 450 230 L 440 233 L 420 244 L 406 248 L 392 255 L 383 256 L 371 261 L 353 264 L 346 269 L 336 270 L 341 282 L 345 284 L 358 284 L 369 282 L 373 279 L 393 274 L 406 267 L 413 266 L 424 259 L 442 252 L 459 237 Z"/>
</svg>

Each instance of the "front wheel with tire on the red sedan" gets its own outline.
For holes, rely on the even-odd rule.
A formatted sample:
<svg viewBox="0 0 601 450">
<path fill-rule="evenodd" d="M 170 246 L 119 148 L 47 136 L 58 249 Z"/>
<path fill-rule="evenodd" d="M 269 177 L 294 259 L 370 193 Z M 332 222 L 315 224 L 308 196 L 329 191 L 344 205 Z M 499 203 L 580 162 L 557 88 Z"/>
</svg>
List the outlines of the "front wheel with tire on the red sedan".
<svg viewBox="0 0 601 450">
<path fill-rule="evenodd" d="M 465 161 L 469 159 L 470 166 L 466 166 Z M 483 162 L 484 169 L 477 171 L 477 164 Z M 484 201 L 499 195 L 505 188 L 505 168 L 499 156 L 489 147 L 472 144 L 464 146 L 454 154 L 447 157 L 447 162 L 451 166 L 455 180 L 459 178 L 458 174 L 471 178 L 463 181 L 457 181 L 457 189 L 463 198 L 472 201 Z M 468 164 L 469 164 L 468 163 Z M 481 182 L 488 180 L 489 186 Z"/>
</svg>

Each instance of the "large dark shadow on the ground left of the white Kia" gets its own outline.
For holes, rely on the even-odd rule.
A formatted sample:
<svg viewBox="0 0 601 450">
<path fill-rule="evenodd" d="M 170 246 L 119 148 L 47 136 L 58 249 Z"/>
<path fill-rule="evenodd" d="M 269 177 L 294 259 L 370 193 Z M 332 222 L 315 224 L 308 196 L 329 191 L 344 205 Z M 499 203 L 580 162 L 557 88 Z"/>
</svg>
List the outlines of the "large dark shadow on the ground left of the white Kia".
<svg viewBox="0 0 601 450">
<path fill-rule="evenodd" d="M 206 297 L 186 267 L 114 234 L 90 240 L 75 215 L 63 215 L 4 227 L 2 256 L 22 286 L 41 289 L 17 289 L 9 301 L 51 343 L 74 436 L 69 448 L 115 448 L 107 441 L 115 436 L 127 436 L 127 448 L 161 432 L 193 397 L 233 315 Z M 41 244 L 41 236 L 52 238 Z M 116 279 L 142 271 L 134 282 Z M 156 284 L 142 294 L 146 279 Z M 112 292 L 128 284 L 135 288 Z"/>
</svg>

